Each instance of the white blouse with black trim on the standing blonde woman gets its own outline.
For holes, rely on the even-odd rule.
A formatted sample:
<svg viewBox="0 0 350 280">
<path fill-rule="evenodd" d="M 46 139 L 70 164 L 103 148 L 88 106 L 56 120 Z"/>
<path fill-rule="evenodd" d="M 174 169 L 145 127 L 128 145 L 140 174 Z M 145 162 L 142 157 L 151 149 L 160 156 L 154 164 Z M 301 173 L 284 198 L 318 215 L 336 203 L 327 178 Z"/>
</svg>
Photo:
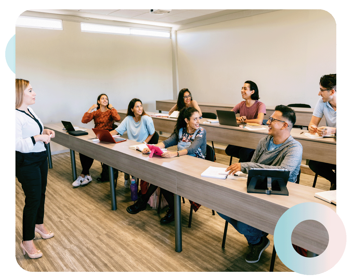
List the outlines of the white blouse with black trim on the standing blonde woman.
<svg viewBox="0 0 350 280">
<path fill-rule="evenodd" d="M 41 120 L 36 116 L 34 111 L 28 107 L 28 110 L 33 114 L 33 116 L 39 121 L 44 129 L 44 125 Z M 40 127 L 36 121 L 29 117 L 23 111 L 16 110 L 16 151 L 22 153 L 33 153 L 42 152 L 46 148 L 44 142 L 37 141 L 34 145 L 32 136 L 40 134 Z"/>
</svg>

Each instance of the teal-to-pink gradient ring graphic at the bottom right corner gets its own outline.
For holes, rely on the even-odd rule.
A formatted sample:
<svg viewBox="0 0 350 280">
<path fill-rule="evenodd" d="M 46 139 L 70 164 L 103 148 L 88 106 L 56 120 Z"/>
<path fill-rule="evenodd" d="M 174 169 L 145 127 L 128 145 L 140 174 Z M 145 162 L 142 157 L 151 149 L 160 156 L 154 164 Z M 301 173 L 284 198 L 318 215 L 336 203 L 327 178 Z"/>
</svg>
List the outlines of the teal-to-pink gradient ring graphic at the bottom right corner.
<svg viewBox="0 0 350 280">
<path fill-rule="evenodd" d="M 295 226 L 306 220 L 320 222 L 329 235 L 327 248 L 314 258 L 299 255 L 291 242 Z M 315 275 L 328 271 L 340 260 L 345 251 L 346 232 L 335 211 L 320 203 L 306 202 L 297 204 L 283 213 L 276 224 L 273 241 L 283 264 L 297 273 Z"/>
</svg>

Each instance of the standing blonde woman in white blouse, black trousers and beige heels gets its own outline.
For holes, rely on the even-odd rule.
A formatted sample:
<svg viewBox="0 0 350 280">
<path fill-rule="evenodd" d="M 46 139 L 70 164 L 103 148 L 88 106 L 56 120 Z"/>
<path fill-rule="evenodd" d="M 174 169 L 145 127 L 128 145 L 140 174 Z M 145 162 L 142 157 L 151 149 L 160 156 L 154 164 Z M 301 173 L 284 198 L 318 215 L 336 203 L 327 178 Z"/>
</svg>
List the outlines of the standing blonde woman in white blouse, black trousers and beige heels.
<svg viewBox="0 0 350 280">
<path fill-rule="evenodd" d="M 35 232 L 43 239 L 54 236 L 44 225 L 45 191 L 48 162 L 46 144 L 55 137 L 53 130 L 44 129 L 33 109 L 36 93 L 27 80 L 16 79 L 16 177 L 26 196 L 23 208 L 21 248 L 32 259 L 43 253 L 34 245 Z"/>
</svg>

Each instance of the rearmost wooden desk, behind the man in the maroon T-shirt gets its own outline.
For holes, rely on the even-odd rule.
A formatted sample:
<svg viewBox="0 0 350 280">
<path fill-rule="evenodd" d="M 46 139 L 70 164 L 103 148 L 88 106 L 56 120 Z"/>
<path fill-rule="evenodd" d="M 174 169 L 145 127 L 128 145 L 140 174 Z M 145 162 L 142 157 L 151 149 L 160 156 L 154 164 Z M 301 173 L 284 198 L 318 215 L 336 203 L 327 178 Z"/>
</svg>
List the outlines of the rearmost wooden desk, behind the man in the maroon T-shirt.
<svg viewBox="0 0 350 280">
<path fill-rule="evenodd" d="M 169 112 L 170 109 L 173 108 L 173 106 L 176 104 L 177 100 L 157 100 L 155 102 L 155 108 L 156 110 L 161 113 L 162 111 Z M 198 102 L 198 106 L 201 108 L 202 112 L 210 112 L 216 114 L 216 110 L 224 110 L 224 111 L 231 111 L 233 107 L 236 106 L 236 104 L 224 104 L 224 103 L 207 103 L 207 102 Z M 296 115 L 296 125 L 302 125 L 302 126 L 308 126 L 311 120 L 312 113 L 314 112 L 313 108 L 299 108 L 299 107 L 292 107 L 295 111 Z M 275 111 L 275 106 L 266 106 L 266 117 L 264 119 L 267 119 L 268 116 L 271 116 L 272 113 Z M 320 121 L 320 126 L 326 125 L 325 119 L 322 118 Z"/>
</svg>

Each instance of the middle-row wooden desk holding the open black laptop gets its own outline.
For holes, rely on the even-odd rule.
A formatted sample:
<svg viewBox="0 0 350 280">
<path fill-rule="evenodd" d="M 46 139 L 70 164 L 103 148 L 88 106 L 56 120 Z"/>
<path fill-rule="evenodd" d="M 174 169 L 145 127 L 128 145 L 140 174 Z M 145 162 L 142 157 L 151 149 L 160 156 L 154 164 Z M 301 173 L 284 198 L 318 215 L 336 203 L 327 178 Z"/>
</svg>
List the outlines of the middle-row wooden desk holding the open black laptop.
<svg viewBox="0 0 350 280">
<path fill-rule="evenodd" d="M 126 116 L 127 110 L 118 110 L 120 121 Z M 153 112 L 147 112 L 149 115 Z M 155 130 L 172 133 L 176 124 L 174 118 L 152 117 Z M 267 130 L 247 130 L 246 128 L 221 125 L 219 123 L 205 124 L 201 119 L 201 126 L 207 131 L 207 140 L 224 144 L 231 144 L 255 149 L 261 138 L 266 136 Z M 266 126 L 265 126 L 266 127 Z M 300 134 L 302 132 L 302 134 Z M 291 135 L 303 146 L 303 158 L 336 164 L 336 140 L 334 138 L 308 138 L 306 130 L 292 128 Z"/>
</svg>

